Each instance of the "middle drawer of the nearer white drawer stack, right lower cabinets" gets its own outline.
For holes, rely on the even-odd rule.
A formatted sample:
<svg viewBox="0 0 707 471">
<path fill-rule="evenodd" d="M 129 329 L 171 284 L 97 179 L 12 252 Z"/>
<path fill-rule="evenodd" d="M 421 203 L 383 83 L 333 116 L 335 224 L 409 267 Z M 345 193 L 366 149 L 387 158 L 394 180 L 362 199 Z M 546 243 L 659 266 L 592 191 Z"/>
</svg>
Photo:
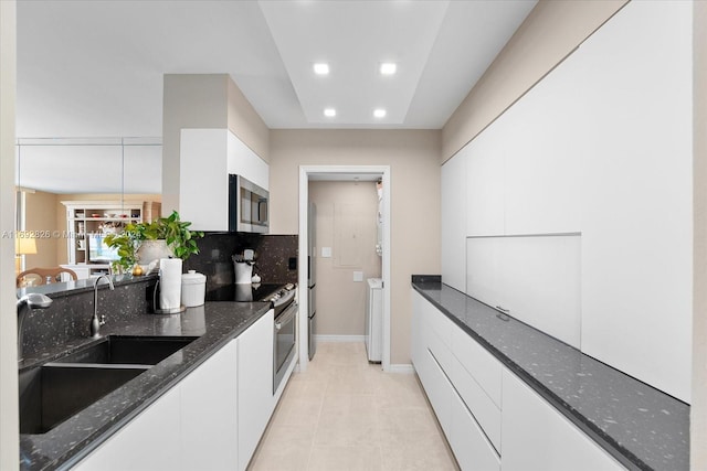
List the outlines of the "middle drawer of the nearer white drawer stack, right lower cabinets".
<svg viewBox="0 0 707 471">
<path fill-rule="evenodd" d="M 474 416 L 486 437 L 500 453 L 500 408 L 488 397 L 456 357 L 452 357 L 447 376 L 461 400 Z M 455 416 L 456 414 L 452 414 Z"/>
</svg>

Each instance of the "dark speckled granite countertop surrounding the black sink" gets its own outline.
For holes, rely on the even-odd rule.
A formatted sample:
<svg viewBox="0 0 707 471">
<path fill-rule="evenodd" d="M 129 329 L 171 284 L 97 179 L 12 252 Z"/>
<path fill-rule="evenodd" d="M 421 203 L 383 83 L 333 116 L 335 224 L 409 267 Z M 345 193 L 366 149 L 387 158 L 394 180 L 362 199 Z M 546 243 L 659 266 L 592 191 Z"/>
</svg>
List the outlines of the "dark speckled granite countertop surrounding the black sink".
<svg viewBox="0 0 707 471">
<path fill-rule="evenodd" d="M 75 464 L 230 340 L 268 310 L 264 302 L 207 302 L 181 314 L 138 315 L 102 328 L 102 335 L 199 336 L 76 416 L 43 435 L 20 435 L 20 469 L 53 470 Z M 56 360 L 96 342 L 84 339 L 25 357 L 23 368 Z"/>
</svg>

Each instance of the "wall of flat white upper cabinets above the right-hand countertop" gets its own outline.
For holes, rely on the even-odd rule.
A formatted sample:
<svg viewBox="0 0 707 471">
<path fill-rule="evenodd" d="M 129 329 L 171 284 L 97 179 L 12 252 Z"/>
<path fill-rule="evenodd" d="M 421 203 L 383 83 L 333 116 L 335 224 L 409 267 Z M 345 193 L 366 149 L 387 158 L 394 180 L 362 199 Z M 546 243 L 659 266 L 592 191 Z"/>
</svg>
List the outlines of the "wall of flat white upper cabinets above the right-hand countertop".
<svg viewBox="0 0 707 471">
<path fill-rule="evenodd" d="M 544 278 L 548 270 L 535 271 L 539 257 L 557 259 L 546 247 L 519 245 L 504 261 L 504 242 L 492 240 L 467 245 L 467 293 L 492 306 L 503 298 L 517 306 L 511 314 L 685 402 L 693 315 L 692 17 L 690 2 L 629 2 L 466 146 L 465 193 L 456 195 L 466 194 L 469 238 L 581 235 L 578 296 L 574 268 L 570 287 L 549 285 L 556 278 Z M 442 227 L 445 245 L 454 231 Z M 454 269 L 444 275 L 458 283 L 462 253 L 451 247 L 443 267 Z M 571 314 L 561 306 L 571 306 Z M 524 319 L 532 309 L 558 318 Z M 580 327 L 572 320 L 571 329 L 581 334 L 567 340 L 569 331 L 558 325 L 576 312 Z"/>
</svg>

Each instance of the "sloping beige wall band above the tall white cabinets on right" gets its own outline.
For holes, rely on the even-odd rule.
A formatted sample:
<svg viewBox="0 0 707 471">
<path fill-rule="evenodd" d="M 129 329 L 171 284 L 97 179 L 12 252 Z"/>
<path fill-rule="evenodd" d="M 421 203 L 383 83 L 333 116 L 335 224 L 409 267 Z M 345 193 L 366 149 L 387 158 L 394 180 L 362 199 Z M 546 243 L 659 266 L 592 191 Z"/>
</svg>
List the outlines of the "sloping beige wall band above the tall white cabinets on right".
<svg viewBox="0 0 707 471">
<path fill-rule="evenodd" d="M 442 130 L 442 162 L 555 68 L 626 0 L 540 0 Z"/>
</svg>

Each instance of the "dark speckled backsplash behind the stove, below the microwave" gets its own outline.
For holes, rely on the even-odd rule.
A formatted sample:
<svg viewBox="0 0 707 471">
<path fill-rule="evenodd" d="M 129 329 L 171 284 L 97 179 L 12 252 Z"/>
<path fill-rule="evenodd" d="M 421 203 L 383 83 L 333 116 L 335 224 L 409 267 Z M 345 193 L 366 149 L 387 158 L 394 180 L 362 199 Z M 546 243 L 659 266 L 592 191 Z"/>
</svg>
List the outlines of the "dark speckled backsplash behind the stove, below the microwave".
<svg viewBox="0 0 707 471">
<path fill-rule="evenodd" d="M 207 233 L 199 239 L 199 254 L 184 261 L 184 270 L 207 276 L 207 290 L 235 280 L 233 254 L 252 248 L 257 254 L 253 274 L 264 283 L 297 282 L 297 235 L 260 235 L 246 233 Z M 291 259 L 294 258 L 294 267 Z M 292 267 L 292 268 L 291 268 Z"/>
</svg>

